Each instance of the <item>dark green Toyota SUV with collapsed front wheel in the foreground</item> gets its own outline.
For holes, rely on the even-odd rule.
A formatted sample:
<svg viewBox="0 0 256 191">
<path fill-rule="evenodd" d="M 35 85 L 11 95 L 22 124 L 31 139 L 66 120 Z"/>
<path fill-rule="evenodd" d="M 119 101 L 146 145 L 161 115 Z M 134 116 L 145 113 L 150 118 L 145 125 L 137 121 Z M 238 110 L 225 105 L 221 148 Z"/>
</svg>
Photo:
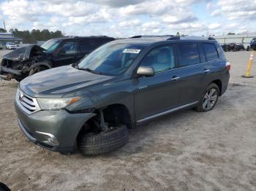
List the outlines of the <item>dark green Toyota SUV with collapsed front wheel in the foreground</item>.
<svg viewBox="0 0 256 191">
<path fill-rule="evenodd" d="M 213 38 L 109 42 L 72 66 L 23 79 L 15 97 L 18 124 L 31 141 L 53 151 L 110 152 L 127 143 L 128 128 L 180 109 L 213 109 L 229 70 Z"/>
</svg>

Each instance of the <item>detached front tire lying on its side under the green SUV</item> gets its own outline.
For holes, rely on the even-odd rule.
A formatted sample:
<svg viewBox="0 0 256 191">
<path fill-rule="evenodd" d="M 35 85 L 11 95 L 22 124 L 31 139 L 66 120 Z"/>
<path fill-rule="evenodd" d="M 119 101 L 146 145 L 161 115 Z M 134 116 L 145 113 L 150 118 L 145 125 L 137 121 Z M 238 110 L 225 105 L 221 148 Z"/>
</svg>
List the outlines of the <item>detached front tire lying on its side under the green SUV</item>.
<svg viewBox="0 0 256 191">
<path fill-rule="evenodd" d="M 129 140 L 126 125 L 101 133 L 85 133 L 78 137 L 78 149 L 84 155 L 99 155 L 124 147 Z"/>
</svg>

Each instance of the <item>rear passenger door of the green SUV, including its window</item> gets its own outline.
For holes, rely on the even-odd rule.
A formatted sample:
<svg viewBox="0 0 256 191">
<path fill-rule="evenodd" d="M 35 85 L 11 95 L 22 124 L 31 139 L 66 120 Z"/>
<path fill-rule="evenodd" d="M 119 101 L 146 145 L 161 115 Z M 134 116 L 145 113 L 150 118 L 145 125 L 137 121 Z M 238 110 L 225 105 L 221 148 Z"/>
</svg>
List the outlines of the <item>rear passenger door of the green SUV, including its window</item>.
<svg viewBox="0 0 256 191">
<path fill-rule="evenodd" d="M 197 43 L 177 44 L 179 77 L 179 106 L 196 104 L 205 88 L 200 49 Z"/>
</svg>

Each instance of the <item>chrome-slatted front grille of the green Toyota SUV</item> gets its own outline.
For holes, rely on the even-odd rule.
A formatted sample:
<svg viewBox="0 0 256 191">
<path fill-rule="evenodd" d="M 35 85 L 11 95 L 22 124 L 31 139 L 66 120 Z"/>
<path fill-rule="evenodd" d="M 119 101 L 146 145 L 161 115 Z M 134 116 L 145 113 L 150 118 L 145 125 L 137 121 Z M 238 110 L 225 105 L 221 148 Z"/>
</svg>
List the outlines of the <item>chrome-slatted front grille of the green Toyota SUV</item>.
<svg viewBox="0 0 256 191">
<path fill-rule="evenodd" d="M 16 93 L 16 102 L 27 114 L 32 114 L 40 110 L 39 105 L 37 104 L 37 99 L 32 98 L 29 95 L 26 95 L 21 90 L 17 90 Z"/>
</svg>

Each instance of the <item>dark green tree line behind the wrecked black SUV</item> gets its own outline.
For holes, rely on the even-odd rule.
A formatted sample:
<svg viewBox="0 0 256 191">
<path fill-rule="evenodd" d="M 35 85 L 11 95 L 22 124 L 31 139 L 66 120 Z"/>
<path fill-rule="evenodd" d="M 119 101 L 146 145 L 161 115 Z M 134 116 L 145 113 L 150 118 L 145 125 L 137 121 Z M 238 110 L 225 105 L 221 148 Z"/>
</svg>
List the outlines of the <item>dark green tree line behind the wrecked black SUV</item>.
<svg viewBox="0 0 256 191">
<path fill-rule="evenodd" d="M 4 28 L 0 28 L 0 32 L 6 32 Z M 32 44 L 38 41 L 47 41 L 48 39 L 63 37 L 61 31 L 49 31 L 48 29 L 43 29 L 42 31 L 38 29 L 33 29 L 32 31 L 19 31 L 17 28 L 10 29 L 10 33 L 13 36 L 23 39 L 23 43 Z"/>
</svg>

